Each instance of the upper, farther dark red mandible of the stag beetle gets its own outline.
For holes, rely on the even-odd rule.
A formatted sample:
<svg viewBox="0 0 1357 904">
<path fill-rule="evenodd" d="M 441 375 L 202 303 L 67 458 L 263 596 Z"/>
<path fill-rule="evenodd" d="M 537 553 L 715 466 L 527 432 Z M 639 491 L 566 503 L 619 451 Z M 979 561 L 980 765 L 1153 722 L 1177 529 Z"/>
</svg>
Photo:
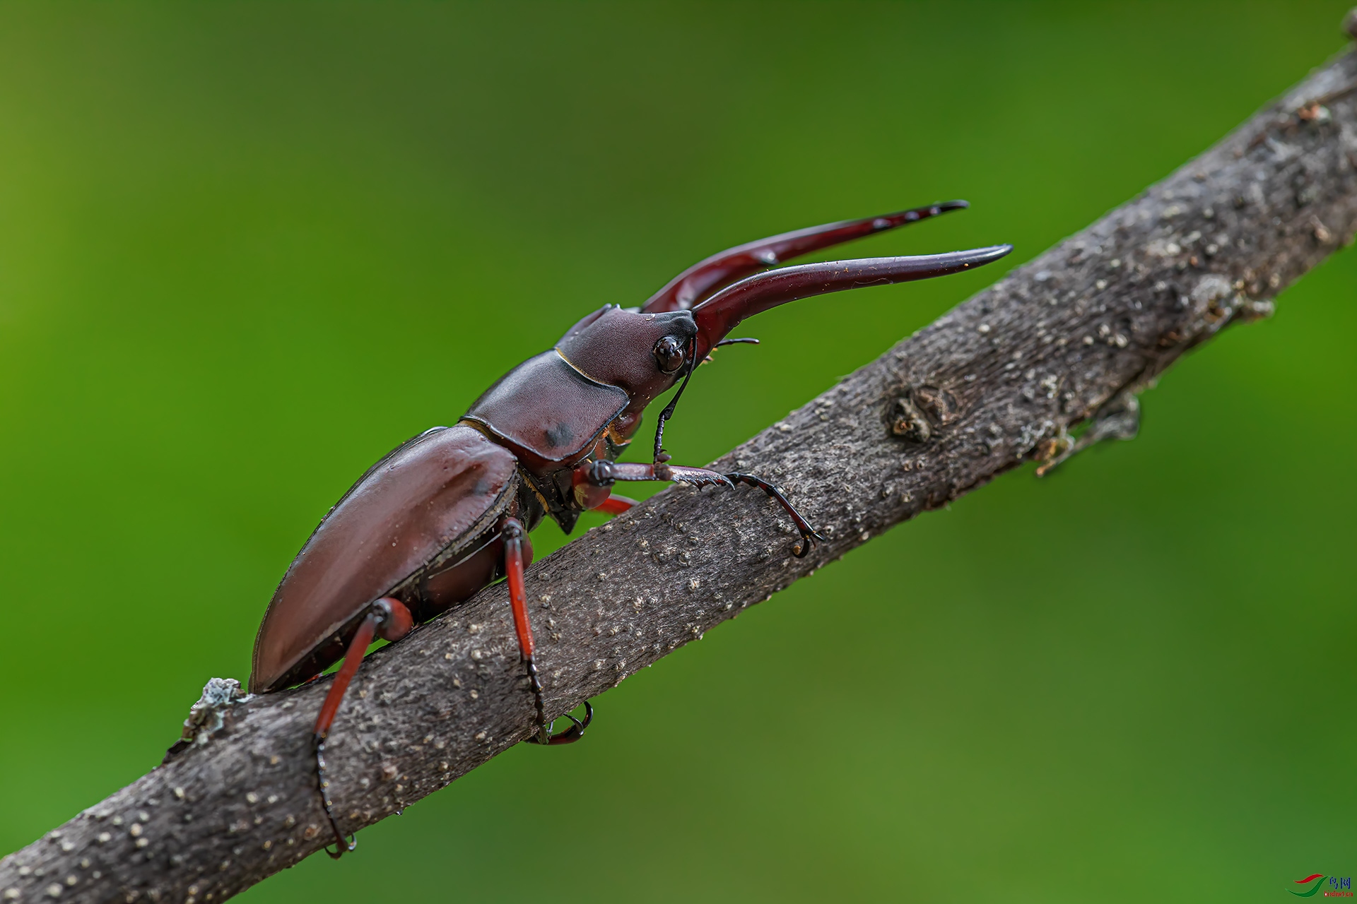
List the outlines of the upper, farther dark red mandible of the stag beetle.
<svg viewBox="0 0 1357 904">
<path fill-rule="evenodd" d="M 963 210 L 969 206 L 965 201 L 939 201 L 927 207 L 913 207 L 862 220 L 843 220 L 735 245 L 684 270 L 664 289 L 653 294 L 641 309 L 646 313 L 687 310 L 730 283 L 773 264 L 877 232 L 928 220 L 949 210 Z"/>
</svg>

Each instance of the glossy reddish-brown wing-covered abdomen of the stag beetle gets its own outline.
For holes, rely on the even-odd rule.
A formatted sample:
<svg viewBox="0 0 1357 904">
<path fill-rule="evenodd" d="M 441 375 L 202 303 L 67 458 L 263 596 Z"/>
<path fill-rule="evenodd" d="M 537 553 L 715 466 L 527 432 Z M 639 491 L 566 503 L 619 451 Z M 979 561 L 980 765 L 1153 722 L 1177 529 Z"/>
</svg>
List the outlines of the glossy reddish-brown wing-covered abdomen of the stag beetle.
<svg viewBox="0 0 1357 904">
<path fill-rule="evenodd" d="M 278 584 L 255 638 L 250 690 L 278 690 L 324 670 L 364 606 L 430 564 L 452 565 L 484 546 L 514 499 L 516 465 L 467 426 L 421 434 L 381 459 L 326 515 Z M 339 651 L 332 657 L 331 646 Z"/>
</svg>

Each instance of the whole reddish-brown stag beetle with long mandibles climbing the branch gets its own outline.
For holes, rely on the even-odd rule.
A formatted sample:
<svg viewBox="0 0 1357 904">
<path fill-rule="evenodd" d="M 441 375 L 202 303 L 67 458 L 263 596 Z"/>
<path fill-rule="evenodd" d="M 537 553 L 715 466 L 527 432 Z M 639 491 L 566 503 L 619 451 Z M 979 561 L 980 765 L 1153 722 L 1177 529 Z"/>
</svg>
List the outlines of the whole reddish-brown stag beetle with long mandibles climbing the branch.
<svg viewBox="0 0 1357 904">
<path fill-rule="evenodd" d="M 376 637 L 396 641 L 501 576 L 509 580 L 518 648 L 536 709 L 537 744 L 578 740 L 593 717 L 570 716 L 552 733 L 533 661 L 524 568 L 528 531 L 550 515 L 570 533 L 586 510 L 620 514 L 624 481 L 696 487 L 735 484 L 771 496 L 797 525 L 795 556 L 824 539 L 782 489 L 754 474 L 670 465 L 665 422 L 696 365 L 745 317 L 844 289 L 927 279 L 1003 258 L 1010 245 L 916 258 L 873 258 L 783 267 L 790 258 L 966 207 L 951 201 L 883 217 L 788 232 L 707 258 L 638 308 L 604 305 L 548 351 L 499 378 L 452 427 L 398 446 L 335 503 L 297 553 L 255 638 L 250 691 L 266 694 L 315 679 L 343 660 L 315 726 L 316 781 L 338 858 L 354 848 L 335 821 L 326 778 L 326 737 L 345 690 Z M 680 384 L 681 381 L 681 384 Z M 617 457 L 646 405 L 678 384 L 660 412 L 650 464 Z"/>
</svg>

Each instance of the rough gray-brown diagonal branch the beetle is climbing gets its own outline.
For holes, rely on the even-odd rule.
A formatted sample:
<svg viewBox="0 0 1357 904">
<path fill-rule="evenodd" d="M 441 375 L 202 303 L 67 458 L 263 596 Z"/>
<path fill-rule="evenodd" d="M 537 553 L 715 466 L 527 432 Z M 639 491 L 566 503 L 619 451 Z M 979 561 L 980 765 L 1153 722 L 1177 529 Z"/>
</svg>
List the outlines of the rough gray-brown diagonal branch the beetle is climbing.
<svg viewBox="0 0 1357 904">
<path fill-rule="evenodd" d="M 1133 435 L 1136 392 L 1225 325 L 1270 313 L 1354 229 L 1348 53 L 723 457 L 718 468 L 786 485 L 829 537 L 809 557 L 791 557 L 795 533 L 761 492 L 674 488 L 533 567 L 551 712 L 1023 461 L 1050 466 Z M 311 756 L 326 689 L 199 712 L 205 744 L 0 861 L 3 900 L 221 901 L 315 854 L 332 840 Z M 506 594 L 493 587 L 362 667 L 330 741 L 342 824 L 370 825 L 531 731 Z"/>
</svg>

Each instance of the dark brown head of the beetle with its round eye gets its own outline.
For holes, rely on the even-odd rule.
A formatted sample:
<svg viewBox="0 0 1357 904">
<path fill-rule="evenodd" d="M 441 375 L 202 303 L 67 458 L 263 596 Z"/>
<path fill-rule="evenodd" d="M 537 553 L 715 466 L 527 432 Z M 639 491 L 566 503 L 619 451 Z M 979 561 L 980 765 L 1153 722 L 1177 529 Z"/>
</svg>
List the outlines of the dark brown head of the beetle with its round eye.
<svg viewBox="0 0 1357 904">
<path fill-rule="evenodd" d="M 643 314 L 607 305 L 571 327 L 556 351 L 590 379 L 627 392 L 631 404 L 619 427 L 630 435 L 645 407 L 688 373 L 696 337 L 692 312 Z"/>
</svg>

